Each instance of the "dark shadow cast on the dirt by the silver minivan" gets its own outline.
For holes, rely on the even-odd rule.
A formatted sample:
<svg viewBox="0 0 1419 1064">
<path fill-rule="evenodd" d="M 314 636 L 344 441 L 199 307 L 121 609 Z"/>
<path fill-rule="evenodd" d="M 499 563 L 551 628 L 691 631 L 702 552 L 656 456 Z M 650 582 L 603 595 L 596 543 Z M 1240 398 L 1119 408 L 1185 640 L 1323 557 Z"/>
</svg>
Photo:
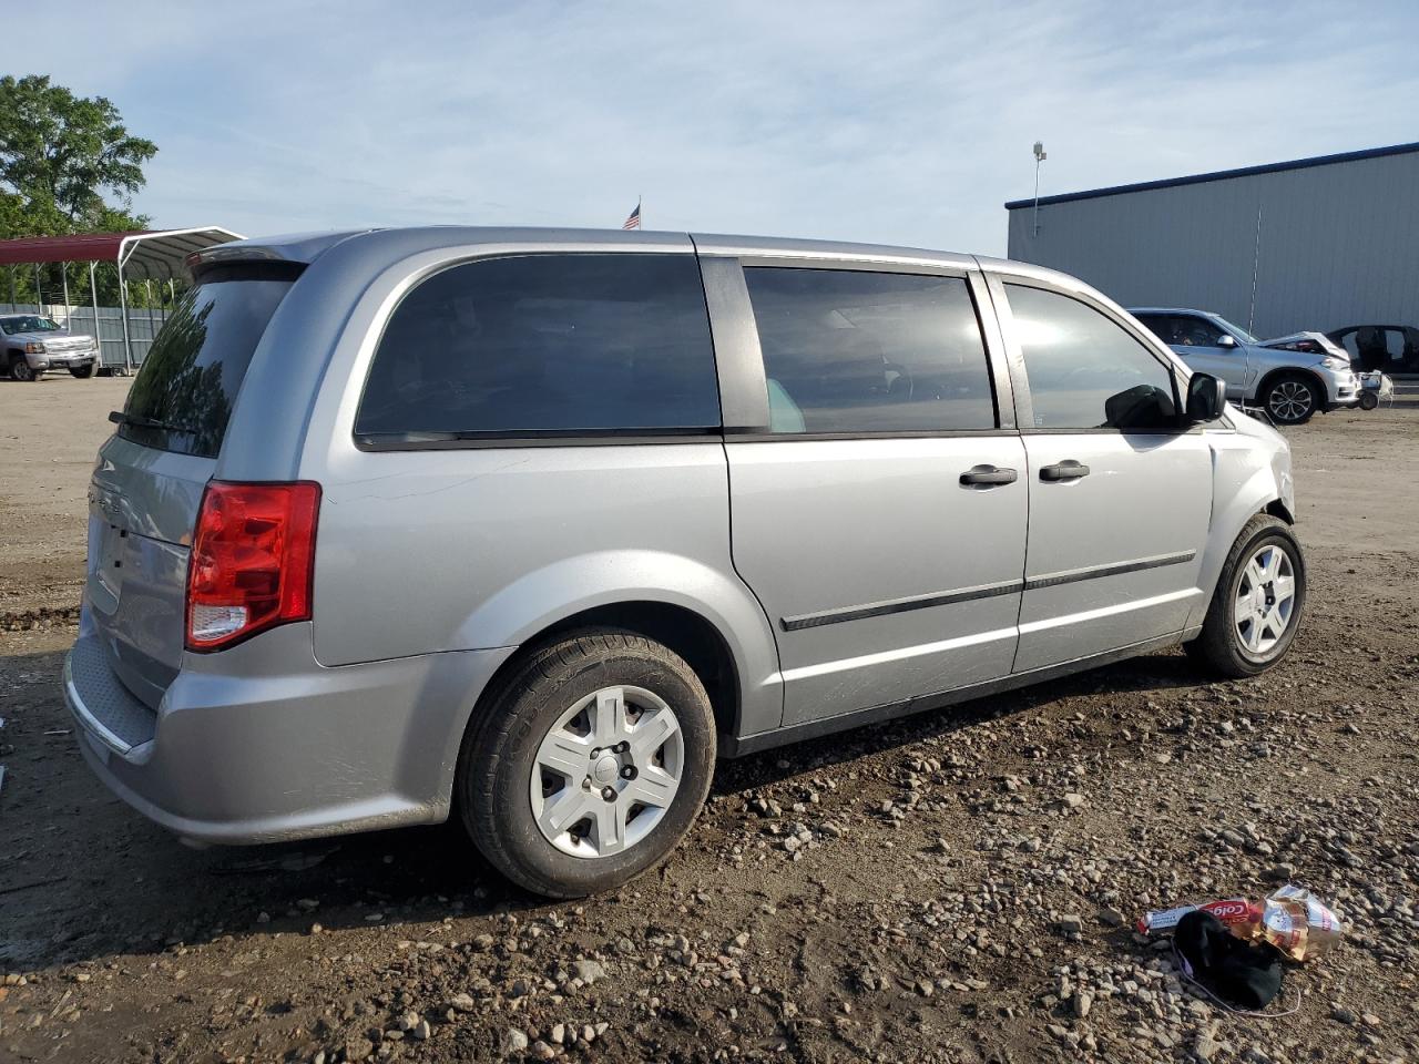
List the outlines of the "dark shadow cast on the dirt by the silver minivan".
<svg viewBox="0 0 1419 1064">
<path fill-rule="evenodd" d="M 60 691 L 61 653 L 6 655 L 0 643 L 0 972 L 150 955 L 253 932 L 407 926 L 562 911 L 504 881 L 460 826 L 299 844 L 192 850 L 109 794 L 79 756 Z M 982 698 L 752 755 L 718 766 L 714 796 L 735 796 L 1030 712 L 1069 695 L 1206 682 L 1181 654 L 1108 665 L 1040 688 Z M 636 890 L 629 888 L 629 890 Z M 678 888 L 667 887 L 678 897 Z M 614 901 L 616 895 L 612 895 Z M 587 902 L 595 904 L 595 902 Z M 668 899 L 674 904 L 674 898 Z M 465 925 L 461 933 L 471 936 Z"/>
</svg>

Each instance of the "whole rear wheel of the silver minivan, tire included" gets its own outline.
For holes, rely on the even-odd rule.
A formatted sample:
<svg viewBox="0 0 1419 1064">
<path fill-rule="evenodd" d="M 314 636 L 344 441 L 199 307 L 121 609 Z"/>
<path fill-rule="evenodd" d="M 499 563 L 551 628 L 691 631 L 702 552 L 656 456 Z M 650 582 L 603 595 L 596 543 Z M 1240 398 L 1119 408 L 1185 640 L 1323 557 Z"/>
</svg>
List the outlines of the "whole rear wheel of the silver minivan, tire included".
<svg viewBox="0 0 1419 1064">
<path fill-rule="evenodd" d="M 714 775 L 714 711 L 670 648 L 586 628 L 528 653 L 470 724 L 458 806 L 482 855 L 552 898 L 660 864 Z"/>
</svg>

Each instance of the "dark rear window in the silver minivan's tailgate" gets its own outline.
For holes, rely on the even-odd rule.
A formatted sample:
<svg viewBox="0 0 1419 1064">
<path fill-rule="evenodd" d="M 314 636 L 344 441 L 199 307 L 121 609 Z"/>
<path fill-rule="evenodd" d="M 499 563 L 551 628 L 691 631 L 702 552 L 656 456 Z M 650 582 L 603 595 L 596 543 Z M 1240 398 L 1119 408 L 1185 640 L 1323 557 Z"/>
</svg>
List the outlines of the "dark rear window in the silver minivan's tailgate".
<svg viewBox="0 0 1419 1064">
<path fill-rule="evenodd" d="M 285 264 L 230 265 L 204 275 L 153 340 L 123 406 L 131 420 L 118 434 L 216 458 L 251 355 L 298 272 Z"/>
</svg>

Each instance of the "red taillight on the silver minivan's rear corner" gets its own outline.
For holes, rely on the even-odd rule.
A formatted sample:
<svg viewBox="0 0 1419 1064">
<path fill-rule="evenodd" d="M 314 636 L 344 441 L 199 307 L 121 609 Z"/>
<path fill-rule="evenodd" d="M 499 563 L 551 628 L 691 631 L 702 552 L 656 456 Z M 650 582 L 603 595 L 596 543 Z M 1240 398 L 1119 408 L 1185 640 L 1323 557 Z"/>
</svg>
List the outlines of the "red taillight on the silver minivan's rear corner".
<svg viewBox="0 0 1419 1064">
<path fill-rule="evenodd" d="M 187 650 L 311 619 L 321 485 L 211 481 L 187 562 Z"/>
</svg>

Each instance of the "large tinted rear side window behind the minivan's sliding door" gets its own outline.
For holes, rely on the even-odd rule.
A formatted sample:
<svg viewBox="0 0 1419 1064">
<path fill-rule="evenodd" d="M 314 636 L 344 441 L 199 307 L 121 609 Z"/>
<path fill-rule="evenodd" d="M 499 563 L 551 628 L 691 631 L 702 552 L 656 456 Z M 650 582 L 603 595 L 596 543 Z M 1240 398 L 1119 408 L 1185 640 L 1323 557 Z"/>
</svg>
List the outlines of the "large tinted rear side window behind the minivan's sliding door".
<svg viewBox="0 0 1419 1064">
<path fill-rule="evenodd" d="M 538 254 L 414 287 L 380 338 L 355 431 L 399 444 L 718 426 L 692 255 Z"/>
</svg>

